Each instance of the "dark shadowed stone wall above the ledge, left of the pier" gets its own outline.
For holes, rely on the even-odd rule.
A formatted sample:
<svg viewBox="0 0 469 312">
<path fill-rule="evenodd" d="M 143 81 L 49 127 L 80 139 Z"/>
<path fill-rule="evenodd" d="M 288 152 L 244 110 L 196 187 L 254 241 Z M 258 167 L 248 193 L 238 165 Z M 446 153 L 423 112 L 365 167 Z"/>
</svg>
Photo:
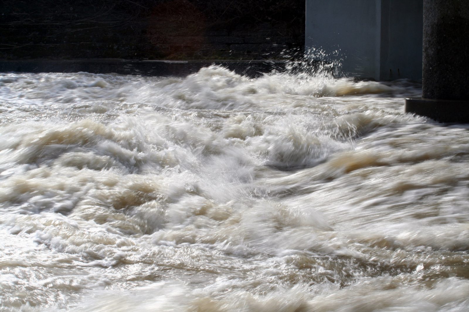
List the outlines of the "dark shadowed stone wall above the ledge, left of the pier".
<svg viewBox="0 0 469 312">
<path fill-rule="evenodd" d="M 0 32 L 0 59 L 281 59 L 304 1 L 4 0 Z"/>
</svg>

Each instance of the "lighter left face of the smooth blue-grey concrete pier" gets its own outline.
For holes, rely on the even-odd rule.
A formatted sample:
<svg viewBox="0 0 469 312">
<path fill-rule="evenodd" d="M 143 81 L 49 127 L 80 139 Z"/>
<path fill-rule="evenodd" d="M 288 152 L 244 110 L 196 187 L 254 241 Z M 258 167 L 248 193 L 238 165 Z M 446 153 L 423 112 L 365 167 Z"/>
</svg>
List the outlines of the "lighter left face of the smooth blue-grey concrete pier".
<svg viewBox="0 0 469 312">
<path fill-rule="evenodd" d="M 379 79 L 376 0 L 307 0 L 305 48 L 321 49 L 330 61 L 339 51 L 345 75 Z M 330 58 L 330 59 L 329 59 Z"/>
</svg>

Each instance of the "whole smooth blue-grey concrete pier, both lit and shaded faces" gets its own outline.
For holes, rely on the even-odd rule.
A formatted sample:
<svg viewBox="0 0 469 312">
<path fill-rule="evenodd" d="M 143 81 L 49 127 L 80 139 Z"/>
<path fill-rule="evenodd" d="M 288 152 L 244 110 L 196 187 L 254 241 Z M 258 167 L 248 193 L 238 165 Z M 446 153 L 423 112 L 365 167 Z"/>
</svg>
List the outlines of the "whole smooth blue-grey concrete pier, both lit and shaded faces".
<svg viewBox="0 0 469 312">
<path fill-rule="evenodd" d="M 423 0 L 306 0 L 306 49 L 340 50 L 348 76 L 420 81 L 422 7 Z"/>
</svg>

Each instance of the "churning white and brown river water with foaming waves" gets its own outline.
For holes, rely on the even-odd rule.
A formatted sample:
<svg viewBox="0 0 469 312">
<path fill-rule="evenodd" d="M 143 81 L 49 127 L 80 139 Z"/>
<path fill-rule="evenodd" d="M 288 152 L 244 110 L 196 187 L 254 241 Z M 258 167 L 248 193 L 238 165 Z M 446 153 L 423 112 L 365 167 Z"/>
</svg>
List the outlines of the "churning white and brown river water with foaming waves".
<svg viewBox="0 0 469 312">
<path fill-rule="evenodd" d="M 0 311 L 468 311 L 469 127 L 420 93 L 0 74 Z"/>
</svg>

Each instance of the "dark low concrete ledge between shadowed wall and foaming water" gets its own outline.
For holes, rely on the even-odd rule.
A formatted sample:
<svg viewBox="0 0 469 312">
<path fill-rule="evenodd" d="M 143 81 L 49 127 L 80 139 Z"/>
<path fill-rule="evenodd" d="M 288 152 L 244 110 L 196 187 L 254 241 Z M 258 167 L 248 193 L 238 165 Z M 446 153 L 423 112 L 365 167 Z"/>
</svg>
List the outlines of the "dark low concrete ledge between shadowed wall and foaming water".
<svg viewBox="0 0 469 312">
<path fill-rule="evenodd" d="M 185 76 L 212 64 L 227 67 L 237 74 L 257 77 L 273 69 L 283 70 L 281 60 L 132 60 L 132 59 L 22 59 L 0 60 L 0 72 L 141 74 L 148 76 Z"/>
</svg>

